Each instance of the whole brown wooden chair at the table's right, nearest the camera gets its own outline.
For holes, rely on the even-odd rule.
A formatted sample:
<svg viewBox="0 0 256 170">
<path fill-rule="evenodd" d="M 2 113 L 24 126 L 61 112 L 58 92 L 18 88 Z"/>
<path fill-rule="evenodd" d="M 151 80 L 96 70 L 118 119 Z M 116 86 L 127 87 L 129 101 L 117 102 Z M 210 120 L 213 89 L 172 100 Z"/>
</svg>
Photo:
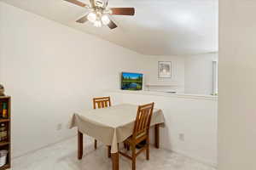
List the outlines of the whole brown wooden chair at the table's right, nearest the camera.
<svg viewBox="0 0 256 170">
<path fill-rule="evenodd" d="M 132 161 L 132 170 L 136 169 L 136 158 L 137 156 L 146 150 L 146 157 L 149 160 L 149 127 L 151 117 L 154 109 L 154 103 L 148 105 L 140 105 L 137 110 L 137 118 L 134 124 L 133 133 L 131 137 L 125 139 L 126 149 L 131 146 L 131 156 L 128 156 L 124 152 L 119 151 L 119 154 L 127 157 Z M 136 152 L 136 145 L 146 140 L 146 144 L 141 150 Z M 130 149 L 128 149 L 130 150 Z"/>
</svg>

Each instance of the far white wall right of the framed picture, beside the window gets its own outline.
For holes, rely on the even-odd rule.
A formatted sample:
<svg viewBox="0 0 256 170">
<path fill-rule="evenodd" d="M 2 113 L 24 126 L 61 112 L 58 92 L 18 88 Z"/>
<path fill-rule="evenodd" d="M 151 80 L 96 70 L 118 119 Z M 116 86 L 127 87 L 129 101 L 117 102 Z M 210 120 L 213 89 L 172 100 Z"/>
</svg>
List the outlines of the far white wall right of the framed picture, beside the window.
<svg viewBox="0 0 256 170">
<path fill-rule="evenodd" d="M 184 84 L 186 94 L 212 94 L 213 60 L 218 60 L 218 53 L 185 57 Z"/>
</svg>

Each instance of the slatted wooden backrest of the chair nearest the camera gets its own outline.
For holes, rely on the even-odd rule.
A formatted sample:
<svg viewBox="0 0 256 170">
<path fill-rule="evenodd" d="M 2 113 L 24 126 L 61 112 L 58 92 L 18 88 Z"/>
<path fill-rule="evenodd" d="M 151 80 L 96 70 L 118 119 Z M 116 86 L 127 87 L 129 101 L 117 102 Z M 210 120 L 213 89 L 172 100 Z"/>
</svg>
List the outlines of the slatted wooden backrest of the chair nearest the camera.
<svg viewBox="0 0 256 170">
<path fill-rule="evenodd" d="M 132 138 L 136 139 L 142 133 L 148 135 L 153 110 L 154 103 L 138 107 Z"/>
</svg>

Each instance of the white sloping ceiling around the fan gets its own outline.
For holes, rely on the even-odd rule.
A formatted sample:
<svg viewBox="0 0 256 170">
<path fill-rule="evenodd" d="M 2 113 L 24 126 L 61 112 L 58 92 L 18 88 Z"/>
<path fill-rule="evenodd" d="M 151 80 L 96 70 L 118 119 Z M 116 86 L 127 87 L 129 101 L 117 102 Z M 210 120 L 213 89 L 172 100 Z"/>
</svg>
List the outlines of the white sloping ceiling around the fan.
<svg viewBox="0 0 256 170">
<path fill-rule="evenodd" d="M 63 0 L 1 0 L 125 48 L 149 55 L 218 51 L 218 0 L 109 0 L 108 7 L 135 7 L 135 16 L 113 16 L 119 26 L 76 23 L 86 9 Z M 89 3 L 89 0 L 80 0 Z"/>
</svg>

